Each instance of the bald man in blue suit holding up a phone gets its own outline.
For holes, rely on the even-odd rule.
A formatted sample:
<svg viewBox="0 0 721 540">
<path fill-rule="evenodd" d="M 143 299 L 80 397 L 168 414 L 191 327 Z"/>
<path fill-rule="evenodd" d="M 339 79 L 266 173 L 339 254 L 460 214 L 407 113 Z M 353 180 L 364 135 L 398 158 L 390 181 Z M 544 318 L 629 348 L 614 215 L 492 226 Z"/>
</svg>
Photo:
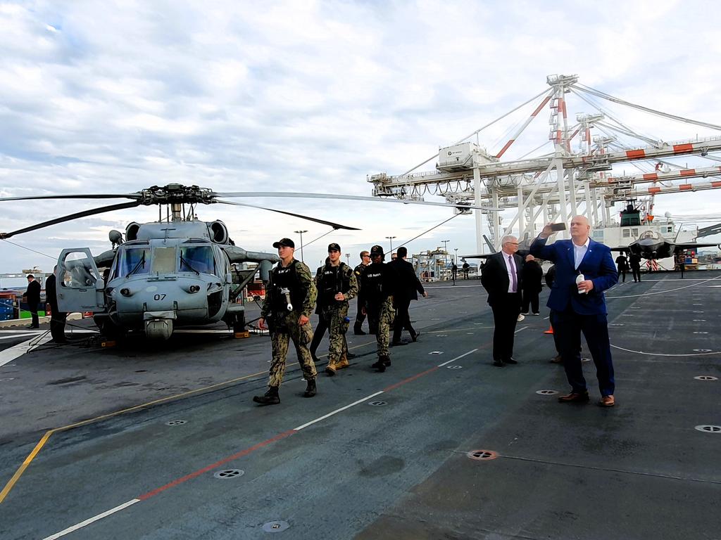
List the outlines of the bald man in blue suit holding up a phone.
<svg viewBox="0 0 721 540">
<path fill-rule="evenodd" d="M 558 333 L 561 357 L 571 392 L 558 398 L 560 402 L 587 402 L 588 388 L 583 378 L 580 358 L 580 334 L 583 332 L 593 363 L 596 364 L 601 401 L 598 405 L 613 407 L 614 365 L 611 361 L 609 324 L 603 291 L 619 280 L 614 259 L 608 246 L 588 238 L 590 225 L 583 216 L 571 220 L 571 240 L 557 240 L 546 246 L 553 234 L 546 225 L 531 243 L 531 255 L 552 261 L 556 279 L 548 299 L 551 324 Z M 578 276 L 583 276 L 580 279 Z"/>
</svg>

